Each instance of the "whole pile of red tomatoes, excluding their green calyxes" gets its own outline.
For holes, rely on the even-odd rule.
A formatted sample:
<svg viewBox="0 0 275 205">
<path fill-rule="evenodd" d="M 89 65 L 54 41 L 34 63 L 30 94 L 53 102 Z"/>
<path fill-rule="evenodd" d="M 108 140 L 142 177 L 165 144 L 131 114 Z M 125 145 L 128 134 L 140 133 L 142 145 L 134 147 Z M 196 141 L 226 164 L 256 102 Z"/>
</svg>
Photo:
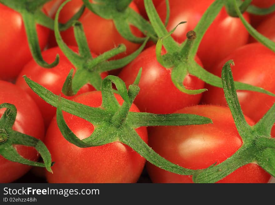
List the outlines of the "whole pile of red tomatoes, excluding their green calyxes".
<svg viewBox="0 0 275 205">
<path fill-rule="evenodd" d="M 50 17 L 63 0 L 52 0 L 42 8 Z M 92 1 L 90 1 L 92 2 Z M 186 33 L 193 30 L 203 13 L 214 0 L 169 0 L 170 17 L 166 26 L 178 43 L 186 40 Z M 156 10 L 165 22 L 167 5 L 165 0 L 153 0 Z M 253 0 L 258 7 L 270 7 L 275 0 Z M 59 14 L 59 22 L 67 22 L 83 5 L 82 0 L 71 0 Z M 134 0 L 129 5 L 145 19 L 148 16 L 143 0 Z M 55 164 L 53 173 L 45 171 L 49 183 L 135 183 L 138 181 L 146 161 L 132 148 L 120 142 L 113 142 L 90 148 L 79 148 L 68 142 L 58 129 L 56 108 L 42 100 L 27 85 L 22 76 L 44 86 L 56 95 L 91 107 L 102 103 L 100 91 L 90 85 L 84 85 L 76 95 L 66 96 L 62 93 L 63 84 L 68 73 L 75 66 L 58 47 L 54 32 L 41 25 L 36 25 L 42 57 L 52 63 L 59 54 L 59 63 L 53 68 L 43 68 L 32 58 L 21 15 L 0 1 L 0 104 L 10 103 L 17 109 L 13 129 L 18 132 L 41 139 L 52 156 Z M 259 17 L 243 13 L 258 32 L 275 41 L 275 14 Z M 85 8 L 78 19 L 82 23 L 87 43 L 92 56 L 96 57 L 124 44 L 126 52 L 112 59 L 121 59 L 136 51 L 141 44 L 124 39 L 116 30 L 110 19 L 99 17 Z M 131 26 L 137 37 L 144 34 Z M 63 41 L 75 52 L 78 43 L 73 27 L 61 32 Z M 163 53 L 166 51 L 163 50 Z M 208 28 L 199 45 L 195 61 L 216 76 L 221 76 L 222 66 L 228 60 L 234 60 L 232 73 L 235 81 L 262 87 L 275 92 L 275 53 L 253 39 L 238 17 L 231 17 L 222 8 L 214 22 Z M 153 41 L 127 66 L 109 74 L 119 76 L 127 85 L 131 85 L 142 67 L 138 86 L 140 92 L 131 108 L 134 112 L 155 114 L 187 113 L 208 117 L 213 124 L 188 126 L 160 126 L 138 128 L 140 137 L 158 154 L 172 163 L 192 169 L 202 169 L 219 164 L 229 158 L 242 146 L 242 138 L 237 132 L 231 112 L 227 107 L 222 88 L 206 84 L 196 76 L 187 74 L 183 85 L 189 90 L 207 88 L 197 95 L 181 92 L 171 80 L 171 69 L 163 67 L 157 60 L 156 45 Z M 101 77 L 108 75 L 103 72 Z M 243 113 L 250 125 L 259 121 L 275 102 L 274 97 L 253 92 L 237 91 Z M 123 100 L 118 98 L 120 104 Z M 0 110 L 0 116 L 5 109 Z M 93 133 L 94 126 L 88 121 L 64 112 L 64 119 L 79 139 Z M 1 131 L 1 128 L 0 128 Z M 275 136 L 275 129 L 272 130 Z M 39 159 L 32 147 L 15 145 L 18 153 L 29 160 Z M 30 166 L 11 162 L 0 156 L 0 182 L 9 183 L 27 173 Z M 147 163 L 146 170 L 154 183 L 192 183 L 192 176 L 184 176 L 165 171 Z M 238 168 L 219 182 L 222 183 L 267 183 L 271 175 L 256 163 Z"/>
</svg>

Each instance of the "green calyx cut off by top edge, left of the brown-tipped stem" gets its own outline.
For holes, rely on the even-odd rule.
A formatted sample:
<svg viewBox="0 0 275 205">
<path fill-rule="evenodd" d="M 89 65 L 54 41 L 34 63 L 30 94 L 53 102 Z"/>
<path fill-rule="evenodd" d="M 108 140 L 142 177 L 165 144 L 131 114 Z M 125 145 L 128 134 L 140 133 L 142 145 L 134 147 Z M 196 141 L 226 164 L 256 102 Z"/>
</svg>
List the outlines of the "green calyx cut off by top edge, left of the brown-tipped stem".
<svg viewBox="0 0 275 205">
<path fill-rule="evenodd" d="M 151 24 L 129 7 L 131 0 L 83 0 L 86 7 L 104 19 L 112 19 L 120 35 L 134 43 L 142 43 L 146 38 L 136 37 L 131 32 L 130 25 L 137 27 L 143 34 L 157 41 L 156 33 Z"/>
</svg>

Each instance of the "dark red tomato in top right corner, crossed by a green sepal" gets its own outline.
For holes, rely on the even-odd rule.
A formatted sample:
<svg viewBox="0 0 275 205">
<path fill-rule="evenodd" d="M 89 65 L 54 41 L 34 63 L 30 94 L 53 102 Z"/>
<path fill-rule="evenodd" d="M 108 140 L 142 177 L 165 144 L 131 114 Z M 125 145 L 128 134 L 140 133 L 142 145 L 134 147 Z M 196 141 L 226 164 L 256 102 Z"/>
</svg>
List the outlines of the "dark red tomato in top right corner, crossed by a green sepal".
<svg viewBox="0 0 275 205">
<path fill-rule="evenodd" d="M 275 4 L 275 0 L 252 0 L 251 4 L 260 7 L 260 8 L 268 8 L 271 7 L 273 4 Z M 269 15 L 265 16 L 258 16 L 250 14 L 251 24 L 252 26 L 257 26 L 261 23 L 262 20 L 267 19 L 270 17 Z"/>
</svg>

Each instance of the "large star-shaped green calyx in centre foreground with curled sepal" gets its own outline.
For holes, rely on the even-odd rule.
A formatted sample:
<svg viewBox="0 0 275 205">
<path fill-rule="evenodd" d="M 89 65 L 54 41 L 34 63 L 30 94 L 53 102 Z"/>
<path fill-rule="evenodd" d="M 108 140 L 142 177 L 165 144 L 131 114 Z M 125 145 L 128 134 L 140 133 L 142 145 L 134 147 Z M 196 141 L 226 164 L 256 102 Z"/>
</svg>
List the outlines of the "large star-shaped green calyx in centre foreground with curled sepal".
<svg viewBox="0 0 275 205">
<path fill-rule="evenodd" d="M 136 83 L 138 83 L 138 78 Z M 94 108 L 79 104 L 52 92 L 24 76 L 31 89 L 50 105 L 57 107 L 57 123 L 63 136 L 78 147 L 92 147 L 119 141 L 130 146 L 152 164 L 167 171 L 192 175 L 196 170 L 180 167 L 164 159 L 153 151 L 137 134 L 135 129 L 142 126 L 191 125 L 208 124 L 212 120 L 190 114 L 157 115 L 152 113 L 130 112 L 129 109 L 139 92 L 137 85 L 130 85 L 127 90 L 125 83 L 117 76 L 107 76 L 102 82 L 102 105 Z M 112 83 L 124 102 L 119 105 L 114 96 Z M 91 122 L 95 129 L 90 137 L 78 139 L 66 124 L 62 110 Z"/>
</svg>

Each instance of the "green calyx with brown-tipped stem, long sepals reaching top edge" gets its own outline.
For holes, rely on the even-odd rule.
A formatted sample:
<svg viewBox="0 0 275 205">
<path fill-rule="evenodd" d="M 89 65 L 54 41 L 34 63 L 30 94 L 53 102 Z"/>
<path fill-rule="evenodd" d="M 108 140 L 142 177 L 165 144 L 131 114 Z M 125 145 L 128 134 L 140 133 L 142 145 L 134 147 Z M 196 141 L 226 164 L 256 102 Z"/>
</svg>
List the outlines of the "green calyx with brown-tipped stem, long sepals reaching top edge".
<svg viewBox="0 0 275 205">
<path fill-rule="evenodd" d="M 184 41 L 181 45 L 178 45 L 178 43 L 174 41 L 170 35 L 174 29 L 171 32 L 168 32 L 158 16 L 153 2 L 151 0 L 144 0 L 144 5 L 150 22 L 159 37 L 156 45 L 157 59 L 165 68 L 172 70 L 171 78 L 174 85 L 184 93 L 196 95 L 207 90 L 189 90 L 185 88 L 183 81 L 188 74 L 198 77 L 207 84 L 222 88 L 221 78 L 206 71 L 198 65 L 197 62 L 195 62 L 194 58 L 203 35 L 224 6 L 224 3 L 225 0 L 216 0 L 213 2 L 203 14 L 194 31 L 189 31 L 187 33 L 186 41 Z M 164 55 L 161 55 L 162 46 L 164 46 L 167 51 Z M 235 85 L 237 90 L 251 90 L 275 96 L 273 93 L 256 86 L 241 82 L 235 82 Z"/>
</svg>

